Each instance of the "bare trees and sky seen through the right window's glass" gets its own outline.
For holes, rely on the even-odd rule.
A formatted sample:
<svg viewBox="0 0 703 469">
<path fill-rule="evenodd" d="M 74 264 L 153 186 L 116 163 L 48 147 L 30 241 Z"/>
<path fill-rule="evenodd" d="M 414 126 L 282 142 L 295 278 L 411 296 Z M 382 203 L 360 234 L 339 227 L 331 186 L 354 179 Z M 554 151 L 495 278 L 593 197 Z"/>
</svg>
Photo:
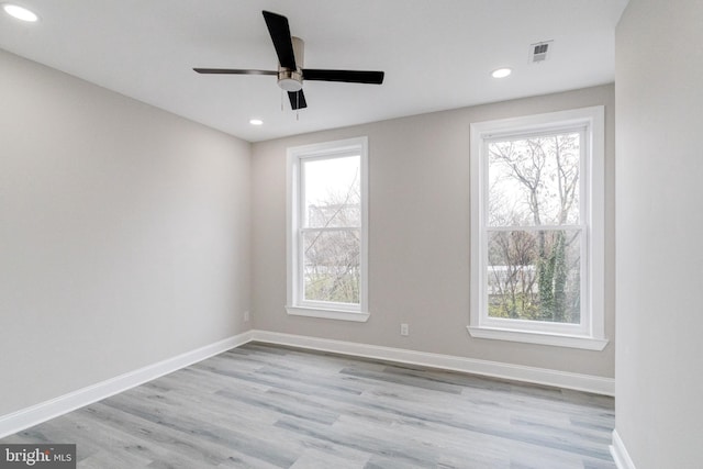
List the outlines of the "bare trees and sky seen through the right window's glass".
<svg viewBox="0 0 703 469">
<path fill-rule="evenodd" d="M 489 316 L 580 322 L 580 133 L 488 144 Z"/>
</svg>

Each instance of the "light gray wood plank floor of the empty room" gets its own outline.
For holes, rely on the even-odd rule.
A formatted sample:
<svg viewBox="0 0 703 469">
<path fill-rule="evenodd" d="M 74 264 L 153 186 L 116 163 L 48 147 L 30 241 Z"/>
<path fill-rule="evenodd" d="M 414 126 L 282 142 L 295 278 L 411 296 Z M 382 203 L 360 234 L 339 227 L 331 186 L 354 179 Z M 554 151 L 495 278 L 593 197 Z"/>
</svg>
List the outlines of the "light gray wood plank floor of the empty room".
<svg viewBox="0 0 703 469">
<path fill-rule="evenodd" d="M 611 398 L 248 344 L 2 443 L 79 468 L 615 469 Z"/>
</svg>

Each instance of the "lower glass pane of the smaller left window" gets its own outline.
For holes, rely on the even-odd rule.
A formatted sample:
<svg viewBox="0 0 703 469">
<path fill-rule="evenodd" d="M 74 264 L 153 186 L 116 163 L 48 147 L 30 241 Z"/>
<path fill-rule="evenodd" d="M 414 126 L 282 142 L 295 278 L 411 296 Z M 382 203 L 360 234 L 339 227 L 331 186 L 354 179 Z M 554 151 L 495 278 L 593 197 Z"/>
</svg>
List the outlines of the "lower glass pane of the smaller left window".
<svg viewBox="0 0 703 469">
<path fill-rule="evenodd" d="M 359 304 L 359 231 L 305 231 L 302 237 L 305 300 Z"/>
</svg>

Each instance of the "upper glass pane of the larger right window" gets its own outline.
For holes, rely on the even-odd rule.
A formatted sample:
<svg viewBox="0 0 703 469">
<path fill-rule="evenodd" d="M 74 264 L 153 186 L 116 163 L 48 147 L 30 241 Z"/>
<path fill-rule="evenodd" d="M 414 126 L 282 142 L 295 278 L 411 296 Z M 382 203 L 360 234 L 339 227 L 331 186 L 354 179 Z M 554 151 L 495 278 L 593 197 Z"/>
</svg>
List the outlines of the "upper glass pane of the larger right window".
<svg viewBox="0 0 703 469">
<path fill-rule="evenodd" d="M 580 134 L 488 143 L 489 226 L 579 223 Z"/>
</svg>

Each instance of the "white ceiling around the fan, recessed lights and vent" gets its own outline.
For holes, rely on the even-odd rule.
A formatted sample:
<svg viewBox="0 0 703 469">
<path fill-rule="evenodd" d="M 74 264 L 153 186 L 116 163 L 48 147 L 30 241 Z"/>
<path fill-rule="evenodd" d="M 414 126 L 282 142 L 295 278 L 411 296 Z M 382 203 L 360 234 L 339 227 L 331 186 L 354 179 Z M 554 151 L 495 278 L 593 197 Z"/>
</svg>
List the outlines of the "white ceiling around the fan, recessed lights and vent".
<svg viewBox="0 0 703 469">
<path fill-rule="evenodd" d="M 0 48 L 257 142 L 611 82 L 627 0 L 13 2 L 41 21 L 0 13 Z M 308 81 L 297 115 L 275 77 L 192 71 L 275 70 L 261 10 L 288 18 L 305 67 L 384 70 L 383 85 Z M 529 44 L 547 40 L 549 60 L 528 64 Z M 491 78 L 504 66 L 513 75 Z"/>
</svg>

